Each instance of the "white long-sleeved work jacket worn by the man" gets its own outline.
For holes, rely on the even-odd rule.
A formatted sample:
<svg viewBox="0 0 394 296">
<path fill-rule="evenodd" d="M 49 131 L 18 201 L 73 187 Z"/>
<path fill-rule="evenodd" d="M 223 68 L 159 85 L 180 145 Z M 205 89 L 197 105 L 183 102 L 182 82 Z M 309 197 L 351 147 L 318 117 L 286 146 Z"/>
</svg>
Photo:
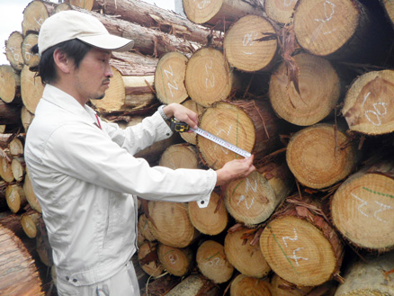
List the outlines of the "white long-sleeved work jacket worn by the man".
<svg viewBox="0 0 394 296">
<path fill-rule="evenodd" d="M 209 201 L 213 170 L 151 167 L 133 155 L 172 135 L 156 112 L 122 130 L 99 121 L 69 94 L 46 85 L 25 145 L 26 164 L 53 249 L 57 275 L 73 285 L 101 282 L 135 253 L 132 197 Z M 205 204 L 207 205 L 207 203 Z"/>
</svg>

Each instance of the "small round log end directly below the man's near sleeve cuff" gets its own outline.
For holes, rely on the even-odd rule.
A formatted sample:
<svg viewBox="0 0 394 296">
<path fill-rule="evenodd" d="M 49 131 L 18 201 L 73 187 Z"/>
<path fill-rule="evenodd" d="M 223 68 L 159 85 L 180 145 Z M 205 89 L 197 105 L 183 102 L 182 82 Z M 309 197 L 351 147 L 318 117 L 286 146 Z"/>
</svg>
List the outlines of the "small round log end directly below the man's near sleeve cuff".
<svg viewBox="0 0 394 296">
<path fill-rule="evenodd" d="M 210 203 L 203 209 L 199 208 L 197 202 L 189 202 L 188 211 L 193 226 L 203 234 L 218 235 L 228 225 L 228 211 L 218 193 L 210 193 Z"/>
</svg>

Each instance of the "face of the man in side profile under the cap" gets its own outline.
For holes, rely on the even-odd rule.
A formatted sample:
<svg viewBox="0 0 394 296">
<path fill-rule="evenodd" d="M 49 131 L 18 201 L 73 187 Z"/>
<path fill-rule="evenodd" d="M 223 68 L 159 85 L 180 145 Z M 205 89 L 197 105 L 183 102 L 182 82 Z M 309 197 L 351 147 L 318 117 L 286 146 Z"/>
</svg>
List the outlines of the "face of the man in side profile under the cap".
<svg viewBox="0 0 394 296">
<path fill-rule="evenodd" d="M 76 92 L 81 99 L 103 99 L 112 77 L 110 58 L 111 51 L 93 48 L 74 69 Z"/>
</svg>

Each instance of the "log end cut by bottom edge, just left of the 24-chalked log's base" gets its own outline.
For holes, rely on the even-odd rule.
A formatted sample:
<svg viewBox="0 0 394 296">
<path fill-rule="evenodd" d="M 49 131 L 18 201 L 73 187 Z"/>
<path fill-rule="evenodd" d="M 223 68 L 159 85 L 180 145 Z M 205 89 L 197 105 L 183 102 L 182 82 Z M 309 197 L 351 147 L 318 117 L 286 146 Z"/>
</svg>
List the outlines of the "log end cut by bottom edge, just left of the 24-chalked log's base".
<svg viewBox="0 0 394 296">
<path fill-rule="evenodd" d="M 267 279 L 238 274 L 230 285 L 230 296 L 271 296 L 271 287 Z"/>
</svg>

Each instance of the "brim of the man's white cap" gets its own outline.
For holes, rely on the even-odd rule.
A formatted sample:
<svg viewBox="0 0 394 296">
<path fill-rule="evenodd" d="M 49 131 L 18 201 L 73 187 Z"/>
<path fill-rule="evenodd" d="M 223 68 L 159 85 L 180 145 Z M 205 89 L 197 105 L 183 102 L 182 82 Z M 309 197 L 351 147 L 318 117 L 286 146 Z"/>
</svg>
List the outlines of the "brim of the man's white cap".
<svg viewBox="0 0 394 296">
<path fill-rule="evenodd" d="M 87 44 L 90 44 L 95 48 L 115 50 L 115 51 L 127 51 L 132 49 L 134 46 L 134 40 L 126 39 L 111 34 L 84 36 L 84 37 L 78 36 L 77 39 Z"/>
</svg>

